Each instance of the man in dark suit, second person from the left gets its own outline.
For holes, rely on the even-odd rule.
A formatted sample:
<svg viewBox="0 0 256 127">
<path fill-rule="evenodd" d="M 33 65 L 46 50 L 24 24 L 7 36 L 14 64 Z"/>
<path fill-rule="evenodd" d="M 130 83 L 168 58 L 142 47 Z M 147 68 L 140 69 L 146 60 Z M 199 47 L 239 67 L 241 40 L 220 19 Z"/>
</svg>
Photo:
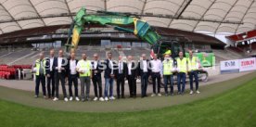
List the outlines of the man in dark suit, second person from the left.
<svg viewBox="0 0 256 127">
<path fill-rule="evenodd" d="M 47 77 L 47 94 L 48 98 L 54 97 L 55 94 L 55 78 L 54 78 L 54 73 L 55 73 L 55 68 L 53 68 L 53 63 L 57 60 L 57 57 L 54 57 L 54 49 L 50 50 L 50 57 L 46 58 L 46 65 L 45 65 L 45 70 L 46 70 L 46 77 Z M 52 86 L 51 86 L 52 85 Z"/>
</svg>

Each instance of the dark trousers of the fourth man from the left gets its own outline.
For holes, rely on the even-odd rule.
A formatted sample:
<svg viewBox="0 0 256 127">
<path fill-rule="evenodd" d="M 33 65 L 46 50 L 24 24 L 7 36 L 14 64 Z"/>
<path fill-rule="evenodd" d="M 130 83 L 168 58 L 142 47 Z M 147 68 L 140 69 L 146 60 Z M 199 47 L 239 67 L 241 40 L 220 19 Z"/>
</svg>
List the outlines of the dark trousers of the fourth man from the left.
<svg viewBox="0 0 256 127">
<path fill-rule="evenodd" d="M 77 79 L 77 75 L 76 74 L 70 74 L 69 75 L 69 92 L 70 92 L 70 96 L 73 96 L 72 93 L 72 84 L 74 84 L 74 90 L 75 90 L 75 96 L 78 97 L 78 79 Z"/>
</svg>

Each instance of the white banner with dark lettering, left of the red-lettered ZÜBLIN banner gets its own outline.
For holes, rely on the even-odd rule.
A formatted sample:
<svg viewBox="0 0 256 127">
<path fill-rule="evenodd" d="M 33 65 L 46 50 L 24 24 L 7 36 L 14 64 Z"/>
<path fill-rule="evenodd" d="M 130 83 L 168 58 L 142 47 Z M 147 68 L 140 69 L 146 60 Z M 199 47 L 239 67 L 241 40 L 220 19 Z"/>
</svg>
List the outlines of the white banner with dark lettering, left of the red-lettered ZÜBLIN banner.
<svg viewBox="0 0 256 127">
<path fill-rule="evenodd" d="M 221 73 L 239 72 L 239 59 L 221 61 Z"/>
</svg>

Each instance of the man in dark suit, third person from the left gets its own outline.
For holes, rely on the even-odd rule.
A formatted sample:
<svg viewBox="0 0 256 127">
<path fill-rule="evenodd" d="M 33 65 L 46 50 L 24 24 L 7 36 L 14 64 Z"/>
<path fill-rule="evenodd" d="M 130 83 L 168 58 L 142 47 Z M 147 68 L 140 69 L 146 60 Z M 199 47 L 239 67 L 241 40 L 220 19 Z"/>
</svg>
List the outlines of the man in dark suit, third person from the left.
<svg viewBox="0 0 256 127">
<path fill-rule="evenodd" d="M 66 68 L 68 64 L 68 59 L 66 57 L 63 57 L 63 50 L 58 51 L 58 58 L 53 64 L 53 68 L 55 68 L 55 89 L 56 89 L 56 95 L 53 99 L 54 101 L 58 101 L 58 85 L 59 81 L 62 86 L 62 91 L 64 95 L 64 100 L 69 101 L 67 97 L 66 87 L 65 87 L 65 76 L 66 76 Z"/>
</svg>

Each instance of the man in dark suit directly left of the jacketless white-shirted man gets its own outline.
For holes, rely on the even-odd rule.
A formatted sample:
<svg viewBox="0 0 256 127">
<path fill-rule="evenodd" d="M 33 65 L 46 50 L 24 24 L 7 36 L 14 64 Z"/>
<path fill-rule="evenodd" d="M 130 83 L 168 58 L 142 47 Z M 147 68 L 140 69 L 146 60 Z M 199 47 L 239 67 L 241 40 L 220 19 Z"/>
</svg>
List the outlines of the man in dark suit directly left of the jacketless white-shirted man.
<svg viewBox="0 0 256 127">
<path fill-rule="evenodd" d="M 148 81 L 148 76 L 150 75 L 150 61 L 146 58 L 146 54 L 143 54 L 142 60 L 140 60 L 138 64 L 138 73 L 140 75 L 141 79 L 141 97 L 146 97 L 147 96 L 147 81 Z"/>
</svg>

